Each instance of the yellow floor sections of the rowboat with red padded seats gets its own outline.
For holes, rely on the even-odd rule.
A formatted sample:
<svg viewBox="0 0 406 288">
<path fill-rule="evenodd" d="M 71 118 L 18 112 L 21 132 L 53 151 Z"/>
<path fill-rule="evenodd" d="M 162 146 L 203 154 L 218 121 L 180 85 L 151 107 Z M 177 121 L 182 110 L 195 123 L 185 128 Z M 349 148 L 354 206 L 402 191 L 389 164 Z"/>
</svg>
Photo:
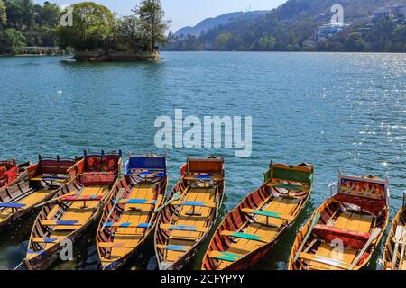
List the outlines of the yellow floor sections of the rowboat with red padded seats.
<svg viewBox="0 0 406 288">
<path fill-rule="evenodd" d="M 338 217 L 337 220 L 334 221 L 334 224 L 331 225 L 336 228 L 340 229 L 347 229 L 352 231 L 364 232 L 368 233 L 371 225 L 373 224 L 373 216 L 368 214 L 360 214 L 357 212 L 350 212 L 350 211 L 343 211 Z M 329 243 L 322 242 L 316 252 L 314 253 L 318 257 L 326 257 L 326 258 L 334 258 L 337 255 L 336 250 L 337 247 L 330 245 Z M 351 265 L 352 262 L 355 260 L 356 253 L 359 250 L 354 248 L 344 248 L 343 256 L 340 259 L 341 261 L 345 262 L 348 265 Z M 313 254 L 313 253 L 312 253 Z M 328 266 L 327 264 L 318 263 L 316 261 L 309 262 L 309 269 L 315 270 L 329 270 L 332 266 Z M 338 269 L 337 267 L 334 267 Z"/>
</svg>

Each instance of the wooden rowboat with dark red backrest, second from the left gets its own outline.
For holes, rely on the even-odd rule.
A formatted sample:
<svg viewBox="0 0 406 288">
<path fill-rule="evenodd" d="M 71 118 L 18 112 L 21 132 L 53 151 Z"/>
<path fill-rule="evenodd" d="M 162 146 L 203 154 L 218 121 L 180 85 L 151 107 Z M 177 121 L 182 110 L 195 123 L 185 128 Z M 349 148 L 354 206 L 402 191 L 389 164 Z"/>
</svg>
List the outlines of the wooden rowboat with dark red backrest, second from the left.
<svg viewBox="0 0 406 288">
<path fill-rule="evenodd" d="M 50 200 L 60 185 L 69 180 L 69 168 L 78 161 L 39 157 L 38 163 L 26 168 L 24 179 L 0 189 L 0 229 L 30 213 L 35 205 Z"/>
</svg>

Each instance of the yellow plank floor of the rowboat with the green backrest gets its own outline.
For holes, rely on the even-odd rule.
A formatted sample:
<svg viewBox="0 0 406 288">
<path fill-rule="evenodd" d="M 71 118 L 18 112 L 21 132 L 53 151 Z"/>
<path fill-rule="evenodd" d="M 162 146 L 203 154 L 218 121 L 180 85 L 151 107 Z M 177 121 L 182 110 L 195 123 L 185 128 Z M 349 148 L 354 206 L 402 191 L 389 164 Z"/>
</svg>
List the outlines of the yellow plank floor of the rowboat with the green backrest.
<svg viewBox="0 0 406 288">
<path fill-rule="evenodd" d="M 271 202 L 269 202 L 269 200 L 265 200 L 265 202 L 263 202 L 259 208 L 263 211 L 272 211 L 282 215 L 292 216 L 297 210 L 298 205 L 300 205 L 300 199 L 291 199 L 280 196 L 273 198 Z M 246 222 L 245 225 L 237 232 L 258 236 L 261 238 L 261 241 L 239 238 L 230 244 L 230 246 L 226 249 L 226 252 L 245 256 L 256 249 L 263 247 L 263 245 L 271 242 L 272 239 L 278 235 L 278 231 L 285 221 L 286 220 L 269 218 L 267 222 L 266 216 L 254 217 L 253 222 Z M 219 260 L 217 269 L 224 269 L 229 265 L 230 262 Z"/>
</svg>

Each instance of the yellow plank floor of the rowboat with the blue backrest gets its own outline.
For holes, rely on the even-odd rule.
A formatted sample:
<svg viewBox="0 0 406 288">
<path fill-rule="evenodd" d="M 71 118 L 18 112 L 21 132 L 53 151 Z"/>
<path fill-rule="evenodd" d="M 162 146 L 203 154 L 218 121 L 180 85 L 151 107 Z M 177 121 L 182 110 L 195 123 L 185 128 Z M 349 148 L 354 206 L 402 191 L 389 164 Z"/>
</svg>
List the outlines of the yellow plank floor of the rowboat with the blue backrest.
<svg viewBox="0 0 406 288">
<path fill-rule="evenodd" d="M 146 199 L 152 201 L 154 199 L 153 184 L 137 184 L 128 194 L 127 199 Z M 117 222 L 120 223 L 149 223 L 151 210 L 154 206 L 149 204 L 127 204 L 125 210 L 120 215 Z M 112 241 L 110 260 L 122 257 L 123 255 L 131 252 L 131 250 L 138 245 L 140 240 L 143 239 L 145 228 L 112 228 L 115 229 L 115 236 Z"/>
</svg>

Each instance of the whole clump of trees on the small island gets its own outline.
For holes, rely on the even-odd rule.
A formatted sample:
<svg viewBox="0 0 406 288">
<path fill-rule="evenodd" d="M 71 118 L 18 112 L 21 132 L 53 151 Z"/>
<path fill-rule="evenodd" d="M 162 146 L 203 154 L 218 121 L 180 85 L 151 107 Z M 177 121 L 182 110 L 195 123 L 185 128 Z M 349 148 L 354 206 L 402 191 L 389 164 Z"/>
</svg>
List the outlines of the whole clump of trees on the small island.
<svg viewBox="0 0 406 288">
<path fill-rule="evenodd" d="M 77 50 L 109 49 L 154 51 L 164 43 L 169 22 L 158 0 L 143 0 L 134 15 L 116 18 L 105 6 L 93 2 L 73 4 L 73 26 L 60 27 L 60 47 Z"/>
</svg>

